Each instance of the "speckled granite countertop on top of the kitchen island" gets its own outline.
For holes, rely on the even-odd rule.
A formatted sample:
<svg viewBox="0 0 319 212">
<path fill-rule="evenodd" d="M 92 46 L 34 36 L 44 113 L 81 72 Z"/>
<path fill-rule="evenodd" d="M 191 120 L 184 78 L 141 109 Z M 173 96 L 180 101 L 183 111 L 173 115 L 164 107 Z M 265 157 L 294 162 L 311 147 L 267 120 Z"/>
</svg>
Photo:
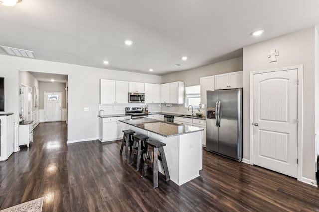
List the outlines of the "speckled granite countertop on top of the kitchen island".
<svg viewBox="0 0 319 212">
<path fill-rule="evenodd" d="M 131 120 L 119 120 L 126 124 L 140 128 L 142 130 L 150 131 L 164 137 L 179 136 L 182 134 L 193 133 L 204 130 L 201 127 L 190 125 L 180 125 L 170 122 L 163 122 L 157 119 L 140 118 Z"/>
</svg>

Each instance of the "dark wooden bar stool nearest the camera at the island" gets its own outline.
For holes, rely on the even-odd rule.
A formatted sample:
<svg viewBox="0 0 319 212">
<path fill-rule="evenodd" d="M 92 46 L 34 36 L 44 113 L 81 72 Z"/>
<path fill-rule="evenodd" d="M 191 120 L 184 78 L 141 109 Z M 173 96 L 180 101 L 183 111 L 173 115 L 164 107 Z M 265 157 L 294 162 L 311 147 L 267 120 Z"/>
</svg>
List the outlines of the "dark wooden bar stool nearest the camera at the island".
<svg viewBox="0 0 319 212">
<path fill-rule="evenodd" d="M 144 166 L 142 170 L 142 177 L 146 176 L 146 169 L 148 168 L 148 166 L 152 167 L 153 168 L 153 188 L 156 188 L 159 186 L 159 161 L 158 160 L 161 160 L 163 163 L 166 181 L 170 180 L 166 156 L 165 156 L 165 152 L 163 148 L 166 144 L 160 141 L 154 141 L 154 140 L 149 140 L 146 143 L 148 147 L 147 147 L 146 157 L 145 157 Z M 153 159 L 151 157 L 152 152 L 153 152 Z M 160 155 L 159 155 L 159 152 L 160 152 Z"/>
</svg>

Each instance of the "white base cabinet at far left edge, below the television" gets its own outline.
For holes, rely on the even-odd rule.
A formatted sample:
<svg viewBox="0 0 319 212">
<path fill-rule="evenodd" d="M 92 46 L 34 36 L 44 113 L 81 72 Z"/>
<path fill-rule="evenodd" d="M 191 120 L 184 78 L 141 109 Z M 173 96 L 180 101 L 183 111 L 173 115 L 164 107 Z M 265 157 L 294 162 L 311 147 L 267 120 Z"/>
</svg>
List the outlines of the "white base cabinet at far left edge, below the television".
<svg viewBox="0 0 319 212">
<path fill-rule="evenodd" d="M 14 151 L 14 115 L 0 114 L 0 161 L 6 160 Z"/>
</svg>

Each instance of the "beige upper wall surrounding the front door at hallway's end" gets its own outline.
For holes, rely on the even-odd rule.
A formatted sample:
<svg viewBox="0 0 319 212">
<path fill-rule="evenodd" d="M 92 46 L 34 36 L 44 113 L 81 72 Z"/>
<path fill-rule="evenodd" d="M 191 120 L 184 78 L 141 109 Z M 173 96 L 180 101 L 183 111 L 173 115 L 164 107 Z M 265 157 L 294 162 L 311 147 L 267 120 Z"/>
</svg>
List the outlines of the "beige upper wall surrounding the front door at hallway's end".
<svg viewBox="0 0 319 212">
<path fill-rule="evenodd" d="M 39 108 L 44 109 L 44 92 L 62 92 L 62 108 L 66 108 L 66 83 L 39 83 Z"/>
</svg>

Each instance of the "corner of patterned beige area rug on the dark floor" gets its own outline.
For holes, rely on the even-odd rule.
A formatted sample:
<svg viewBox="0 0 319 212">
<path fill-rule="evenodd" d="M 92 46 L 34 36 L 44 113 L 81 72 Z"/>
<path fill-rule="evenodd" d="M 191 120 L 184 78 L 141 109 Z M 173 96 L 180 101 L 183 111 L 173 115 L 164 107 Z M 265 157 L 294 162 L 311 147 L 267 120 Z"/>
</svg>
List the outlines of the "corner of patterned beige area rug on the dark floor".
<svg viewBox="0 0 319 212">
<path fill-rule="evenodd" d="M 3 209 L 0 212 L 41 212 L 43 197 Z"/>
</svg>

